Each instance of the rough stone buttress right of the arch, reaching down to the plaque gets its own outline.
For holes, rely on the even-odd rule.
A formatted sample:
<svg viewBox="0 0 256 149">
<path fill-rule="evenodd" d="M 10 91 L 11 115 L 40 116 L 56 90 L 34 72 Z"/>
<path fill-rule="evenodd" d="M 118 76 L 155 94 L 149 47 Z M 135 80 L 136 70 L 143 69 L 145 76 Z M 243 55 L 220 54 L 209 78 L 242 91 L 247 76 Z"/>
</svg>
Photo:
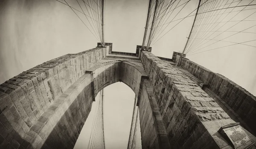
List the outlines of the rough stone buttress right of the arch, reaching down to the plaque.
<svg viewBox="0 0 256 149">
<path fill-rule="evenodd" d="M 217 131 L 234 121 L 200 86 L 149 52 L 142 52 L 140 58 L 149 75 L 172 148 L 230 147 Z"/>
</svg>

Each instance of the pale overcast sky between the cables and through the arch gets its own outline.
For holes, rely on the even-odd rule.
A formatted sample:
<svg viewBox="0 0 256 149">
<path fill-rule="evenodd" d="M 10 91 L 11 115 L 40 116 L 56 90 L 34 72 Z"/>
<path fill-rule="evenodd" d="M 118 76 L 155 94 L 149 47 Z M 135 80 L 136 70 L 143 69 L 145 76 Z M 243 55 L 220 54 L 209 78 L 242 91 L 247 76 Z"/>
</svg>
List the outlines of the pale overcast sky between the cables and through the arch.
<svg viewBox="0 0 256 149">
<path fill-rule="evenodd" d="M 76 0 L 67 2 L 79 9 Z M 135 52 L 136 45 L 141 45 L 147 7 L 148 0 L 106 0 L 105 40 L 113 43 L 113 51 Z M 191 0 L 177 18 L 186 16 L 195 7 L 196 0 Z M 80 17 L 85 20 L 84 16 Z M 255 15 L 252 18 L 256 18 Z M 192 19 L 183 20 L 155 43 L 152 53 L 171 58 L 173 51 L 182 51 Z M 256 28 L 250 29 L 250 32 L 256 32 Z M 1 0 L 0 33 L 0 83 L 47 60 L 92 49 L 97 43 L 76 14 L 55 0 Z M 256 34 L 250 37 L 239 34 L 234 40 L 240 41 L 245 37 L 253 40 Z M 256 43 L 250 44 L 256 46 Z M 187 58 L 223 74 L 256 95 L 255 55 L 255 48 L 239 45 Z M 105 88 L 107 148 L 127 147 L 133 101 L 134 93 L 123 83 Z M 93 110 L 89 117 L 92 115 Z M 86 134 L 90 132 L 90 127 L 90 123 L 85 123 L 76 148 L 87 147 L 84 143 L 88 141 Z"/>
</svg>

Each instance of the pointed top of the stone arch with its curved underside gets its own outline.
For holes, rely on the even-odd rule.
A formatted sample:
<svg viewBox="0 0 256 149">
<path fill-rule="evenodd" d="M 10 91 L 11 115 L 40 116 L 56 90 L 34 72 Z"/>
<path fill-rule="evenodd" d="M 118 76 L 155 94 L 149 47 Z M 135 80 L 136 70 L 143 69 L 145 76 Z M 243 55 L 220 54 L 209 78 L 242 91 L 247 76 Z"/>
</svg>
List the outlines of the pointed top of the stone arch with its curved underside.
<svg viewBox="0 0 256 149">
<path fill-rule="evenodd" d="M 123 82 L 138 96 L 141 77 L 147 77 L 143 67 L 129 61 L 113 60 L 94 64 L 88 71 L 92 73 L 95 96 L 98 92 L 116 82 Z"/>
</svg>

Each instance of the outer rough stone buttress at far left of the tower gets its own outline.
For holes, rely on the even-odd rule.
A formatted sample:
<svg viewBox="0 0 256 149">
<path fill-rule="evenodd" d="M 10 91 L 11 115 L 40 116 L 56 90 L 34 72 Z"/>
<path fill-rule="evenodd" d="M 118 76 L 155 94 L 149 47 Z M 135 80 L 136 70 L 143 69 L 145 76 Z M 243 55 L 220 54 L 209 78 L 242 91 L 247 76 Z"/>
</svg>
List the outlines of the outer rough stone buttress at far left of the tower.
<svg viewBox="0 0 256 149">
<path fill-rule="evenodd" d="M 0 85 L 0 148 L 27 146 L 22 138 L 54 101 L 108 54 L 95 48 L 49 60 Z M 25 145 L 24 145 L 25 144 Z"/>
</svg>

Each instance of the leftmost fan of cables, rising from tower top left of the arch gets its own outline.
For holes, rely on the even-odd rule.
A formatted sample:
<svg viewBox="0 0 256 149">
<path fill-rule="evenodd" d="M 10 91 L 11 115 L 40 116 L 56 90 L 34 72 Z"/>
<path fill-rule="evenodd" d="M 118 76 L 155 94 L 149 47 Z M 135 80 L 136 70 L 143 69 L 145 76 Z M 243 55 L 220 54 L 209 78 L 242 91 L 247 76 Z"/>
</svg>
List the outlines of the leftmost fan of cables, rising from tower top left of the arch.
<svg viewBox="0 0 256 149">
<path fill-rule="evenodd" d="M 104 41 L 104 9 L 105 0 L 56 0 L 69 6 L 70 9 L 76 14 L 86 28 L 93 34 L 93 36 L 105 45 Z M 82 15 L 80 15 L 82 14 Z"/>
</svg>

